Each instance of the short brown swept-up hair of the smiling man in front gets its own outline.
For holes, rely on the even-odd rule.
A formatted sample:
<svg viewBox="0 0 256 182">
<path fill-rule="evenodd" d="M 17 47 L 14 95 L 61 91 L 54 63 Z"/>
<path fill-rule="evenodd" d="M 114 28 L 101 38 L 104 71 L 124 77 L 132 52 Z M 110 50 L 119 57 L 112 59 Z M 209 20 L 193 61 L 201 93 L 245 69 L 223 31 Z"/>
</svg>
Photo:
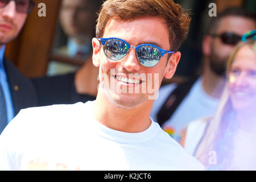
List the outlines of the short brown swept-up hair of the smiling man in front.
<svg viewBox="0 0 256 182">
<path fill-rule="evenodd" d="M 172 51 L 177 51 L 188 34 L 189 18 L 179 4 L 171 0 L 108 0 L 102 6 L 97 19 L 96 36 L 101 38 L 110 18 L 132 20 L 139 16 L 160 16 L 167 21 Z"/>
</svg>

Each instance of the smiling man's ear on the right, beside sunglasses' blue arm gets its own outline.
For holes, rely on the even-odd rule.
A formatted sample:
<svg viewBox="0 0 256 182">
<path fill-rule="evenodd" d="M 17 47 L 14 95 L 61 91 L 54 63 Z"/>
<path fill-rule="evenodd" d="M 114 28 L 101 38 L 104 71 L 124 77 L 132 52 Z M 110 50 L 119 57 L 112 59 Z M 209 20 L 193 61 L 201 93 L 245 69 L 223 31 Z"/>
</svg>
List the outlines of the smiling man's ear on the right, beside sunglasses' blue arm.
<svg viewBox="0 0 256 182">
<path fill-rule="evenodd" d="M 172 78 L 174 76 L 174 73 L 177 68 L 177 64 L 180 61 L 181 53 L 179 51 L 172 53 L 170 59 L 168 60 L 167 66 L 166 66 L 166 73 L 164 73 L 164 77 L 167 79 Z"/>
</svg>

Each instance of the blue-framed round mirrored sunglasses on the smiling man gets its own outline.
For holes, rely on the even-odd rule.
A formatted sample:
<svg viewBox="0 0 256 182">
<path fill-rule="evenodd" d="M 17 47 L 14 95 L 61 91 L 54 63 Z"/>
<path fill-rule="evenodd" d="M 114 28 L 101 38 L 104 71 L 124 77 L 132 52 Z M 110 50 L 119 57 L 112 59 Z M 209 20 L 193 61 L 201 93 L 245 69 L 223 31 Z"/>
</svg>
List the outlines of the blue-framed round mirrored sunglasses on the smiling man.
<svg viewBox="0 0 256 182">
<path fill-rule="evenodd" d="M 125 40 L 119 38 L 98 38 L 104 46 L 106 57 L 113 61 L 123 59 L 130 48 L 136 49 L 137 59 L 144 67 L 154 67 L 159 63 L 160 58 L 166 53 L 175 51 L 166 51 L 152 44 L 141 44 L 137 47 L 130 46 Z"/>
</svg>

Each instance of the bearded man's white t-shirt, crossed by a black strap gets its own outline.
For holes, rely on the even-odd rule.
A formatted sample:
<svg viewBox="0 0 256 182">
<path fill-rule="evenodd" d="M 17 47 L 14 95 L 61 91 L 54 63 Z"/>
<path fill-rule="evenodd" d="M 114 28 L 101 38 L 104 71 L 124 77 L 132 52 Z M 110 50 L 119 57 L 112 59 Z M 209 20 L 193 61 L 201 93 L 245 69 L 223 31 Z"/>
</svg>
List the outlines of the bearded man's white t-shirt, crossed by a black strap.
<svg viewBox="0 0 256 182">
<path fill-rule="evenodd" d="M 150 117 L 157 122 L 157 114 L 167 97 L 176 88 L 176 84 L 164 85 L 159 89 L 159 97 L 155 100 Z M 189 122 L 198 118 L 212 116 L 216 113 L 219 99 L 210 97 L 203 89 L 202 78 L 197 79 L 180 105 L 162 126 L 163 130 L 177 142 L 182 137 L 181 131 Z"/>
</svg>

